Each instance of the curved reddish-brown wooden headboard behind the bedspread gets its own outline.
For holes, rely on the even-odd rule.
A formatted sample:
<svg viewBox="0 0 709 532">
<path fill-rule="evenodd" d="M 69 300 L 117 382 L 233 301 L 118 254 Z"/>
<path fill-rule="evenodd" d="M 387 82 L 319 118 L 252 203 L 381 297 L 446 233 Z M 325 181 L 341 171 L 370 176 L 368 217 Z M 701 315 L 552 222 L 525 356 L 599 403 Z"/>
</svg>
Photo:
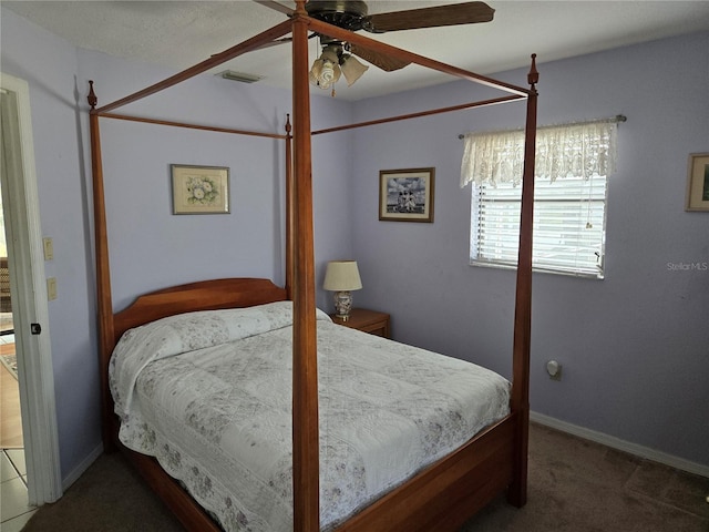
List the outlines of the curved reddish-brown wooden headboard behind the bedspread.
<svg viewBox="0 0 709 532">
<path fill-rule="evenodd" d="M 269 279 L 238 277 L 173 286 L 140 296 L 113 316 L 114 342 L 123 332 L 150 321 L 195 310 L 242 308 L 286 300 L 286 289 Z"/>
</svg>

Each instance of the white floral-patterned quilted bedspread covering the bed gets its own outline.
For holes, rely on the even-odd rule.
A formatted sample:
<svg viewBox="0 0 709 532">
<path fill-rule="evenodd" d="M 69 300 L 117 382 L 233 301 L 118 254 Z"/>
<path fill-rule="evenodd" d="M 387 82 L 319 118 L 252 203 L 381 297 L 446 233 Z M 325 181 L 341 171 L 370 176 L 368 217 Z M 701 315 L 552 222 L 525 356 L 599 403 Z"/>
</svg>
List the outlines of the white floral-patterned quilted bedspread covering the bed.
<svg viewBox="0 0 709 532">
<path fill-rule="evenodd" d="M 289 301 L 127 331 L 110 382 L 121 441 L 154 456 L 226 531 L 292 530 Z M 508 413 L 490 370 L 318 311 L 321 528 Z"/>
</svg>

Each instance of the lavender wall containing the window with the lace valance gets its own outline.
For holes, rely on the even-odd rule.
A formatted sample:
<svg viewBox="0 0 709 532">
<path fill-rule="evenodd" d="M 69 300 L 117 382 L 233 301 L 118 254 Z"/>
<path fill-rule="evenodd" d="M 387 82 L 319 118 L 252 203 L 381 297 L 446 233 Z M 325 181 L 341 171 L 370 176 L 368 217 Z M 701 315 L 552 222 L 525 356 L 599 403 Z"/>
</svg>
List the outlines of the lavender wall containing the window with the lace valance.
<svg viewBox="0 0 709 532">
<path fill-rule="evenodd" d="M 534 275 L 534 411 L 709 464 L 709 214 L 684 209 L 689 153 L 709 150 L 709 33 L 544 63 L 540 124 L 621 113 L 610 178 L 606 279 Z M 501 76 L 525 85 L 526 71 Z M 356 105 L 357 120 L 474 101 L 467 83 Z M 391 313 L 395 339 L 510 376 L 514 273 L 467 265 L 470 187 L 459 133 L 518 126 L 522 105 L 357 133 L 351 197 L 359 305 Z M 379 222 L 378 172 L 434 166 L 433 224 Z M 545 361 L 564 365 L 562 381 Z"/>
</svg>

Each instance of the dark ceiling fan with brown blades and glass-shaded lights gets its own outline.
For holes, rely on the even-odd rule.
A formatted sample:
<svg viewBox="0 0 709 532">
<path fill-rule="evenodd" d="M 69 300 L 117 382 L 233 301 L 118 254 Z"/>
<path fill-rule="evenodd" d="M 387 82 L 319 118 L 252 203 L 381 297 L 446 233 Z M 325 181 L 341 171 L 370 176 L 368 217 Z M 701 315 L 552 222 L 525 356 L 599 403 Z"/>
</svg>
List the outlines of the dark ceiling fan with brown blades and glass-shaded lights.
<svg viewBox="0 0 709 532">
<path fill-rule="evenodd" d="M 254 1 L 287 16 L 294 13 L 291 8 L 274 0 Z M 367 2 L 363 0 L 309 0 L 306 3 L 306 11 L 314 19 L 338 28 L 349 31 L 364 30 L 371 33 L 490 22 L 495 12 L 484 2 L 464 2 L 368 14 Z M 322 53 L 312 64 L 310 82 L 320 89 L 331 89 L 340 75 L 345 75 L 348 85 L 354 83 L 369 69 L 354 55 L 387 72 L 409 64 L 409 62 L 325 34 L 314 33 L 312 37 L 320 39 Z"/>
</svg>

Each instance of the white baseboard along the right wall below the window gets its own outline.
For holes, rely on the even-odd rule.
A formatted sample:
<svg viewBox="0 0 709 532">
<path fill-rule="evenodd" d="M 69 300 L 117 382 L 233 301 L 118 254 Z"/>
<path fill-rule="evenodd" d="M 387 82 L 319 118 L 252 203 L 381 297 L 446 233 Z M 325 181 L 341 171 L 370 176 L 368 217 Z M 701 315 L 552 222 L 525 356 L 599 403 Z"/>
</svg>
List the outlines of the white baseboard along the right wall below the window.
<svg viewBox="0 0 709 532">
<path fill-rule="evenodd" d="M 709 478 L 709 466 L 691 462 L 689 460 L 685 460 L 684 458 L 678 458 L 672 454 L 667 454 L 666 452 L 660 452 L 656 451 L 655 449 L 638 446 L 637 443 L 631 443 L 614 436 L 608 436 L 603 432 L 597 432 L 584 427 L 578 427 L 577 424 L 567 423 L 566 421 L 551 418 L 543 413 L 530 412 L 530 420 L 540 424 L 544 424 L 546 427 L 551 427 L 552 429 L 561 430 L 562 432 L 577 436 L 585 440 L 595 441 L 596 443 L 600 443 L 603 446 L 634 454 L 639 458 L 645 458 L 648 460 L 653 460 L 654 462 L 664 463 L 665 466 L 669 466 L 675 469 L 680 469 L 689 473 Z"/>
</svg>

